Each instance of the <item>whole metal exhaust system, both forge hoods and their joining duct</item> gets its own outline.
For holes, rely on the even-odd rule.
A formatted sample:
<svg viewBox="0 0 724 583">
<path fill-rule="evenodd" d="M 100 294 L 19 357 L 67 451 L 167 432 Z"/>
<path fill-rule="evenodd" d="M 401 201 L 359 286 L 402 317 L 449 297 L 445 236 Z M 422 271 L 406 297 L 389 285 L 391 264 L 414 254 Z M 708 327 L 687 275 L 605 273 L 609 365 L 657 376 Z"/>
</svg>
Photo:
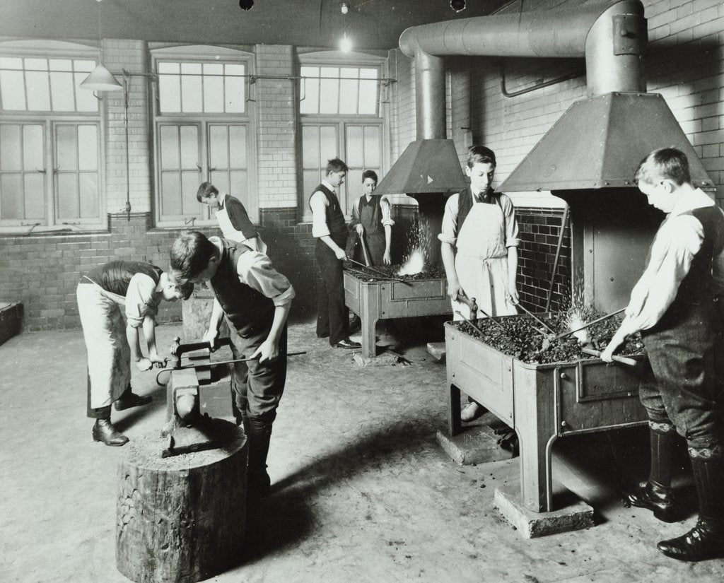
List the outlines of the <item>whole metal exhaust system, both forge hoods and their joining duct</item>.
<svg viewBox="0 0 724 583">
<path fill-rule="evenodd" d="M 455 148 L 450 140 L 444 140 L 442 57 L 455 55 L 586 58 L 589 97 L 568 108 L 500 185 L 503 192 L 633 187 L 633 174 L 641 159 L 656 148 L 672 145 L 689 157 L 694 185 L 712 187 L 664 99 L 646 93 L 642 64 L 646 45 L 647 23 L 640 0 L 408 28 L 400 35 L 400 48 L 415 59 L 418 140 L 392 166 L 389 179 L 384 177 L 378 192 L 459 192 L 466 184 L 416 190 L 424 188 L 426 175 L 433 179 L 447 174 L 447 164 L 452 164 L 447 150 L 454 152 Z M 439 142 L 435 145 L 439 150 L 418 143 L 431 139 Z M 450 145 L 443 146 L 442 142 Z M 416 153 L 424 153 L 422 161 L 416 161 Z M 460 179 L 465 181 L 457 155 L 455 162 Z"/>
</svg>

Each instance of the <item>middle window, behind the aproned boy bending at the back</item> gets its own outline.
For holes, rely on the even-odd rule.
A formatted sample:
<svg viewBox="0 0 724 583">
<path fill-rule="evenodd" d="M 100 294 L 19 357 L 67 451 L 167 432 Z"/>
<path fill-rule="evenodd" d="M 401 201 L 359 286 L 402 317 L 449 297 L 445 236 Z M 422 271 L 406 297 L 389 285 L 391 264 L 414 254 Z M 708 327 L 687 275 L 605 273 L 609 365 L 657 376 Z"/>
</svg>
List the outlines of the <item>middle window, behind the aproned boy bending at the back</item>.
<svg viewBox="0 0 724 583">
<path fill-rule="evenodd" d="M 239 199 L 255 220 L 253 132 L 246 88 L 251 59 L 230 49 L 184 50 L 183 54 L 153 51 L 159 76 L 157 221 L 162 226 L 211 221 L 209 208 L 196 200 L 198 186 L 205 181 Z"/>
</svg>

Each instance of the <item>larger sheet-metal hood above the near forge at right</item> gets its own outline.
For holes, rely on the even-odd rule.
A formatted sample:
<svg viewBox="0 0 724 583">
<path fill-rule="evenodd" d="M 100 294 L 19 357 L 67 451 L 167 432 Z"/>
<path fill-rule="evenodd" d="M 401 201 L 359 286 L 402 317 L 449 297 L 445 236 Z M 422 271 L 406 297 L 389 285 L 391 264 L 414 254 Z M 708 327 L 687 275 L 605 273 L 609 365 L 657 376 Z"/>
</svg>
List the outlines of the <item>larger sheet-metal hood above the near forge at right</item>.
<svg viewBox="0 0 724 583">
<path fill-rule="evenodd" d="M 633 174 L 641 160 L 652 150 L 669 146 L 689 158 L 694 186 L 714 186 L 661 95 L 597 95 L 573 103 L 500 190 L 635 187 Z"/>
</svg>

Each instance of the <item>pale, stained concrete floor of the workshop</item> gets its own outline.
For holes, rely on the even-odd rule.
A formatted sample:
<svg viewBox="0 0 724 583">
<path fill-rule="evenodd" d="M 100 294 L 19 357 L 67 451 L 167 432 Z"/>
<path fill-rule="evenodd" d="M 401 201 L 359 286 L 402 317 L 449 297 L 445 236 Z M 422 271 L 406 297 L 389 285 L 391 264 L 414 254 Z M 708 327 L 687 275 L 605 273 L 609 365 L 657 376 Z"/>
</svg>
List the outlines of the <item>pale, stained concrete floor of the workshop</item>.
<svg viewBox="0 0 724 583">
<path fill-rule="evenodd" d="M 409 338 L 425 327 L 400 329 Z M 159 346 L 179 331 L 160 326 Z M 459 467 L 437 445 L 445 366 L 424 351 L 432 339 L 397 346 L 411 366 L 360 368 L 316 339 L 312 323 L 292 325 L 290 351 L 308 354 L 290 359 L 269 455 L 274 491 L 259 508 L 266 526 L 244 562 L 212 581 L 724 580 L 724 561 L 680 563 L 655 548 L 689 529 L 693 510 L 664 524 L 620 502 L 619 488 L 646 473 L 640 430 L 560 441 L 555 478 L 594 506 L 597 526 L 523 540 L 492 503 L 518 460 Z M 131 439 L 164 420 L 155 373 L 134 376 L 135 391 L 152 394 L 153 404 L 114 412 Z M 91 425 L 80 331 L 23 333 L 0 346 L 1 582 L 127 581 L 114 558 L 123 448 L 93 443 Z M 677 485 L 692 506 L 687 472 Z"/>
</svg>

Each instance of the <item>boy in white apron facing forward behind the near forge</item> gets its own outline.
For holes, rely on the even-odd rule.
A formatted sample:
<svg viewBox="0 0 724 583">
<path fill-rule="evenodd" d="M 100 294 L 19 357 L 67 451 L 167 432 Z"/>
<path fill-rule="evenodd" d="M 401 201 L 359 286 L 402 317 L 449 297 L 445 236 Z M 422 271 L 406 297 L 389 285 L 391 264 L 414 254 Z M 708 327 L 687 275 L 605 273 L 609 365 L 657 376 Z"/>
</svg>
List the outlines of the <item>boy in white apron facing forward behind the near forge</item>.
<svg viewBox="0 0 724 583">
<path fill-rule="evenodd" d="M 515 315 L 518 311 L 518 223 L 510 198 L 491 187 L 495 154 L 484 146 L 468 150 L 466 174 L 470 188 L 452 195 L 445 204 L 442 233 L 442 263 L 447 276 L 447 294 L 453 313 L 467 312 L 458 294 L 474 297 L 491 316 Z M 458 314 L 453 316 L 461 320 Z M 480 417 L 484 407 L 470 400 L 463 421 Z"/>
</svg>

